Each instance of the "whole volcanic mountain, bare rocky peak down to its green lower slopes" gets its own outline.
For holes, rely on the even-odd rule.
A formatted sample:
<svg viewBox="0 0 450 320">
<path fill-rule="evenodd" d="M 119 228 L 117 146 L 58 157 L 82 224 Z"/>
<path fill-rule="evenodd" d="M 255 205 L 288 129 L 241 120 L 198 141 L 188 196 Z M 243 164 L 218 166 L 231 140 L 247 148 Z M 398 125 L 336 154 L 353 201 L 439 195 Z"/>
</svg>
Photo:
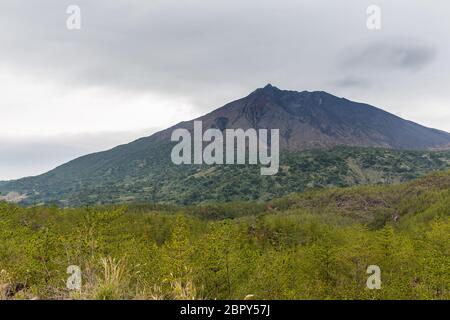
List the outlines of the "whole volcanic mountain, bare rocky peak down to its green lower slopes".
<svg viewBox="0 0 450 320">
<path fill-rule="evenodd" d="M 66 205 L 258 200 L 310 187 L 399 182 L 445 169 L 450 160 L 445 151 L 304 151 L 339 145 L 427 150 L 450 143 L 446 132 L 325 92 L 284 91 L 268 85 L 196 120 L 203 122 L 204 130 L 280 129 L 281 172 L 265 179 L 259 177 L 259 167 L 255 166 L 173 165 L 171 133 L 176 128 L 192 130 L 193 121 L 189 121 L 109 151 L 75 159 L 43 175 L 0 184 L 0 192 L 16 192 L 9 194 L 8 199 L 13 197 L 23 203 Z"/>
</svg>

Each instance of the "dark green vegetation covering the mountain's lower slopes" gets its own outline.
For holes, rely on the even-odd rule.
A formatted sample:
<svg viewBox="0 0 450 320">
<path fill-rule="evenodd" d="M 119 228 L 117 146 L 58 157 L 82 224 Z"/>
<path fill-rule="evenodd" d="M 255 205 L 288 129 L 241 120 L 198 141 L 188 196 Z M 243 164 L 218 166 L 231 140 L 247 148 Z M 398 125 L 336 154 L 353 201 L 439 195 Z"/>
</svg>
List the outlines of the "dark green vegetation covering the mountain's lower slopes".
<svg viewBox="0 0 450 320">
<path fill-rule="evenodd" d="M 150 144 L 145 155 L 113 149 L 115 155 L 84 157 L 42 176 L 0 185 L 0 192 L 15 191 L 10 198 L 26 205 L 266 202 L 316 188 L 398 184 L 450 169 L 450 151 L 341 146 L 282 153 L 279 173 L 261 176 L 259 166 L 176 166 L 170 161 L 171 148 L 164 142 Z M 126 165 L 124 158 L 129 159 Z"/>
</svg>

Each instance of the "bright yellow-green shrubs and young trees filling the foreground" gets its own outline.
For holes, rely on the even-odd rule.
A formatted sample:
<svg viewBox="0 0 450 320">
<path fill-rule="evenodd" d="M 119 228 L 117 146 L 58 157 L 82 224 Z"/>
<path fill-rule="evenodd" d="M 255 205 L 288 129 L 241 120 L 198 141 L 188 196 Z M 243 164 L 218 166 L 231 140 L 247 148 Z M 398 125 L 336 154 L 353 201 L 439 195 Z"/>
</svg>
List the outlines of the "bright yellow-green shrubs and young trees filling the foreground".
<svg viewBox="0 0 450 320">
<path fill-rule="evenodd" d="M 0 270 L 8 299 L 450 299 L 450 172 L 264 205 L 3 202 Z"/>
</svg>

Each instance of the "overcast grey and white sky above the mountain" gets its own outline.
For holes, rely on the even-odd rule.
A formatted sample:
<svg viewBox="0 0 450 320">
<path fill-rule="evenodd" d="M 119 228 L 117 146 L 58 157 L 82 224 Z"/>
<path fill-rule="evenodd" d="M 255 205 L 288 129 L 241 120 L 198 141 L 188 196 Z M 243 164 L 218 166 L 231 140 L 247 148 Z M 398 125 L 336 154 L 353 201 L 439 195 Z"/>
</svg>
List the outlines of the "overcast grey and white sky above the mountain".
<svg viewBox="0 0 450 320">
<path fill-rule="evenodd" d="M 381 8 L 381 30 L 366 26 Z M 68 30 L 69 5 L 81 29 Z M 0 180 L 189 120 L 267 83 L 450 131 L 450 2 L 1 0 Z"/>
</svg>

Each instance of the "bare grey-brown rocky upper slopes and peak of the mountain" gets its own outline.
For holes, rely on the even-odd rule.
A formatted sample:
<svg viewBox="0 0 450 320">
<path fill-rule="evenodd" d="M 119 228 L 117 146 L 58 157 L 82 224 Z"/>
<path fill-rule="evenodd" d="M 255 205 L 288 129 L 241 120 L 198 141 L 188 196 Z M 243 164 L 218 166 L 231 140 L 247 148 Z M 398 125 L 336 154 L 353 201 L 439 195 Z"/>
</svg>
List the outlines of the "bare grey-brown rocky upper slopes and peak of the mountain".
<svg viewBox="0 0 450 320">
<path fill-rule="evenodd" d="M 426 128 L 373 106 L 326 92 L 257 89 L 196 120 L 203 128 L 280 129 L 282 149 L 336 145 L 426 150 L 450 143 L 450 134 Z M 192 121 L 174 128 L 192 128 Z M 174 128 L 158 136 L 169 139 Z"/>
</svg>

